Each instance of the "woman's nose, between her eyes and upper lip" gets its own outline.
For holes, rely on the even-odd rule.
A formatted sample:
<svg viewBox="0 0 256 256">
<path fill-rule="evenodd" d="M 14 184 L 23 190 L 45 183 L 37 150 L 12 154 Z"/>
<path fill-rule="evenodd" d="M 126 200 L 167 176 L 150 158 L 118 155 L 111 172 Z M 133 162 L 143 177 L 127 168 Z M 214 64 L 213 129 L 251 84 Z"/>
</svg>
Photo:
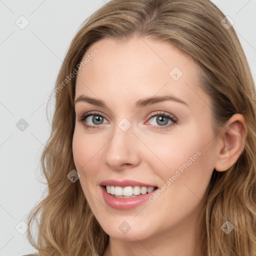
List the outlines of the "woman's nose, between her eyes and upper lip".
<svg viewBox="0 0 256 256">
<path fill-rule="evenodd" d="M 141 141 L 134 135 L 132 126 L 123 131 L 116 124 L 104 146 L 103 162 L 113 170 L 132 168 L 139 164 Z"/>
</svg>

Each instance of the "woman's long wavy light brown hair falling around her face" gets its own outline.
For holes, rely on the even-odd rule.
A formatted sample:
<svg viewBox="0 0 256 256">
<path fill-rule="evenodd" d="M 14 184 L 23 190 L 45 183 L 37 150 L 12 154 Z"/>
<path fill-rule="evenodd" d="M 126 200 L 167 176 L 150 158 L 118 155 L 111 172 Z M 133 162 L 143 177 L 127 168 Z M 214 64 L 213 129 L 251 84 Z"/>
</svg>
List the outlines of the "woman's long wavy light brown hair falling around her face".
<svg viewBox="0 0 256 256">
<path fill-rule="evenodd" d="M 245 116 L 244 150 L 228 170 L 213 170 L 196 244 L 208 256 L 256 255 L 254 82 L 233 27 L 209 0 L 111 0 L 84 21 L 56 79 L 52 128 L 41 156 L 48 191 L 28 216 L 30 243 L 40 256 L 104 253 L 109 236 L 92 214 L 80 183 L 67 178 L 75 169 L 76 75 L 63 81 L 93 42 L 108 37 L 127 41 L 132 36 L 169 42 L 196 61 L 199 86 L 211 98 L 215 134 L 233 114 Z M 234 226 L 229 234 L 220 228 L 227 220 Z M 34 237 L 33 221 L 38 228 Z"/>
</svg>

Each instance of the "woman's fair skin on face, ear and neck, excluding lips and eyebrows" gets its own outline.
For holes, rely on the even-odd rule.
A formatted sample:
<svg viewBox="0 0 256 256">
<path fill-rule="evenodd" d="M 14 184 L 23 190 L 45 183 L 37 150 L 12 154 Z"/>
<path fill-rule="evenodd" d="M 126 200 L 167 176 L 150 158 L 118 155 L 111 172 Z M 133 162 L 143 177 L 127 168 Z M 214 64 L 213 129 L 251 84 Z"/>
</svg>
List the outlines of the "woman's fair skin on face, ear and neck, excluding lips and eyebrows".
<svg viewBox="0 0 256 256">
<path fill-rule="evenodd" d="M 84 57 L 94 48 L 99 52 L 78 71 L 75 99 L 84 94 L 103 100 L 107 108 L 75 103 L 72 149 L 84 195 L 110 236 L 104 256 L 195 255 L 195 232 L 207 185 L 214 167 L 226 170 L 242 152 L 244 117 L 233 115 L 219 136 L 214 136 L 210 97 L 198 86 L 197 66 L 169 43 L 138 37 L 125 43 L 101 39 Z M 169 75 L 173 67 L 183 72 L 178 80 Z M 170 94 L 188 106 L 165 100 L 135 107 L 138 99 Z M 93 116 L 84 121 L 97 126 L 95 129 L 87 130 L 79 121 L 88 111 L 104 116 L 101 124 L 95 124 Z M 163 125 L 168 128 L 154 129 L 163 126 L 157 116 L 149 119 L 149 115 L 159 112 L 159 116 L 171 114 L 177 123 L 168 126 L 173 123 L 169 120 Z M 131 124 L 127 131 L 118 126 L 123 118 Z M 113 209 L 105 203 L 101 181 L 133 179 L 161 188 L 197 151 L 200 156 L 155 201 L 129 210 Z M 118 228 L 123 221 L 131 227 L 126 233 Z"/>
</svg>

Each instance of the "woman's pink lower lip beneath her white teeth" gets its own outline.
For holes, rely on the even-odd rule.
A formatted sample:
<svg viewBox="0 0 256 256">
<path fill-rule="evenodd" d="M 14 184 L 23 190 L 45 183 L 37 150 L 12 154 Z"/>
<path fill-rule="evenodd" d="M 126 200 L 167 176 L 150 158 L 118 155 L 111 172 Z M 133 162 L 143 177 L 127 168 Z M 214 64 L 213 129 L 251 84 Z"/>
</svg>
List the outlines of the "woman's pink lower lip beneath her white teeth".
<svg viewBox="0 0 256 256">
<path fill-rule="evenodd" d="M 142 203 L 144 203 L 150 195 L 152 195 L 157 189 L 153 190 L 150 193 L 137 195 L 136 197 L 130 197 L 130 198 L 117 198 L 109 194 L 104 186 L 100 186 L 100 189 L 102 191 L 103 198 L 105 202 L 112 208 L 118 209 L 118 210 L 127 210 L 135 208 Z"/>
</svg>

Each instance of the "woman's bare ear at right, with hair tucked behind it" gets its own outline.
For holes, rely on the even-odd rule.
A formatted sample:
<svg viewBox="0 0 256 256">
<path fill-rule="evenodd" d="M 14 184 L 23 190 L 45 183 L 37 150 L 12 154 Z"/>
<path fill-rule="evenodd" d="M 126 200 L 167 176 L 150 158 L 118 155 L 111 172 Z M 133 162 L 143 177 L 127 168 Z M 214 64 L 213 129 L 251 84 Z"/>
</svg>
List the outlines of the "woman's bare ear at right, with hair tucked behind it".
<svg viewBox="0 0 256 256">
<path fill-rule="evenodd" d="M 247 135 L 245 118 L 242 114 L 234 114 L 227 121 L 221 135 L 220 150 L 215 161 L 215 170 L 224 171 L 232 166 L 244 149 Z"/>
</svg>

